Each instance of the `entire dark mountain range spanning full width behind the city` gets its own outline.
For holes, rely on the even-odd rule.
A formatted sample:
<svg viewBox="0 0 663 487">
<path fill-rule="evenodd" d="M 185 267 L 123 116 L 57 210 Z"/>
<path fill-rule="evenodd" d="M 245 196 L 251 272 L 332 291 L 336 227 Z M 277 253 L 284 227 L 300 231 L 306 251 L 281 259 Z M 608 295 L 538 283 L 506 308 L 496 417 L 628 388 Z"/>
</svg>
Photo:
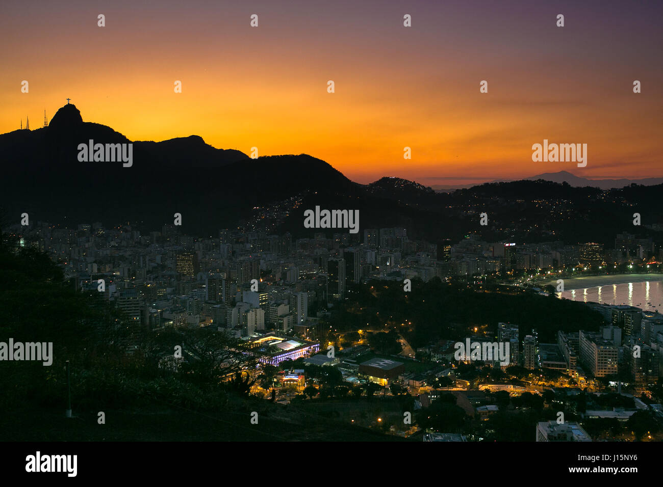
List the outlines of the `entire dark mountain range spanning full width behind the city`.
<svg viewBox="0 0 663 487">
<path fill-rule="evenodd" d="M 133 165 L 79 161 L 79 144 L 90 140 L 132 143 Z M 266 231 L 290 231 L 296 237 L 318 231 L 304 228 L 303 213 L 319 205 L 358 209 L 360 235 L 367 228 L 406 227 L 408 235 L 429 242 L 476 233 L 492 242 L 611 245 L 617 233 L 653 235 L 651 225 L 663 223 L 660 212 L 648 210 L 658 207 L 663 184 L 611 189 L 608 197 L 599 188 L 540 177 L 450 193 L 401 178 L 362 185 L 308 154 L 253 159 L 238 150 L 214 148 L 197 135 L 132 142 L 111 127 L 83 121 L 75 105 L 59 109 L 48 127 L 0 135 L 0 157 L 0 208 L 9 224 L 29 213 L 33 223 L 71 228 L 95 221 L 106 226 L 131 222 L 151 231 L 172 224 L 174 213 L 181 213 L 182 232 L 211 237 L 279 203 L 281 217 Z M 643 225 L 634 228 L 638 210 Z M 487 226 L 479 225 L 483 211 L 489 215 Z"/>
</svg>

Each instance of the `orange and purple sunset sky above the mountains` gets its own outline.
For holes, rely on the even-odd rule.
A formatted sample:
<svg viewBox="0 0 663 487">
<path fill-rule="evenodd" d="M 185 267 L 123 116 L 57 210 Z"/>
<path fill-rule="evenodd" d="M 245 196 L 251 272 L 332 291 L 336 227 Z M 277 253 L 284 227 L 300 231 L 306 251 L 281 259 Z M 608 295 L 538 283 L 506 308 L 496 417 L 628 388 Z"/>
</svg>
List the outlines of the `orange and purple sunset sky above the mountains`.
<svg viewBox="0 0 663 487">
<path fill-rule="evenodd" d="M 279 4 L 4 0 L 0 133 L 70 97 L 131 140 L 303 152 L 361 183 L 663 176 L 661 1 Z M 532 162 L 544 138 L 586 143 L 587 166 Z"/>
</svg>

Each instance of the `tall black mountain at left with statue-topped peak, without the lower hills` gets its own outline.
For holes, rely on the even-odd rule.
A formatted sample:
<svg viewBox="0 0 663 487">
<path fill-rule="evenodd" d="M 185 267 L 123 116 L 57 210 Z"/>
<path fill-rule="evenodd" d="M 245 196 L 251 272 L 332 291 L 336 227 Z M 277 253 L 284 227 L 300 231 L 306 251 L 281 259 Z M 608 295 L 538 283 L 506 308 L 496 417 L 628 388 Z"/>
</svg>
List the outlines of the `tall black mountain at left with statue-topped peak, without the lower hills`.
<svg viewBox="0 0 663 487">
<path fill-rule="evenodd" d="M 78 146 L 89 140 L 132 143 L 133 165 L 80 162 Z M 48 127 L 0 135 L 0 154 L 0 207 L 27 212 L 32 221 L 133 221 L 160 229 L 182 213 L 191 233 L 213 235 L 256 205 L 307 192 L 354 197 L 361 188 L 306 154 L 252 159 L 197 135 L 132 142 L 111 127 L 84 122 L 72 104 L 60 108 Z"/>
</svg>

